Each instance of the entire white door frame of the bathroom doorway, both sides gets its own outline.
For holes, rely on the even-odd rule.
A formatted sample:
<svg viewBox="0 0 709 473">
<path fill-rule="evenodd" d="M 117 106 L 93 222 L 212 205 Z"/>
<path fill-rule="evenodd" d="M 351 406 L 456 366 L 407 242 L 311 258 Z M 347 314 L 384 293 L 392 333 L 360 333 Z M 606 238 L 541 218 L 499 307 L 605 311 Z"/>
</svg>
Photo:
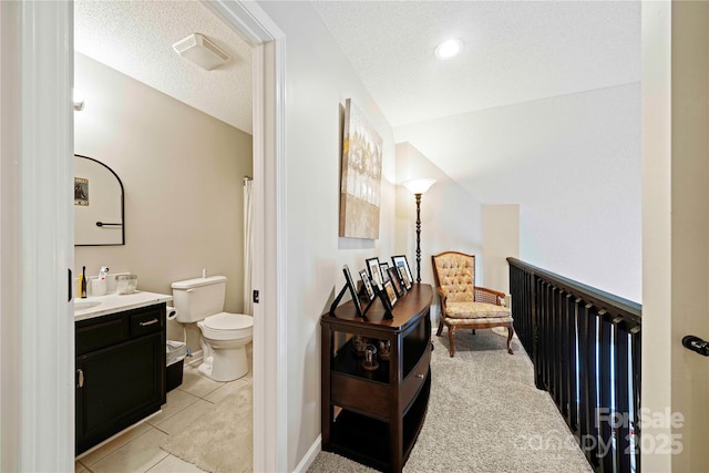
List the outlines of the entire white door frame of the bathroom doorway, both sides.
<svg viewBox="0 0 709 473">
<path fill-rule="evenodd" d="M 286 471 L 285 35 L 253 1 L 205 4 L 255 45 L 254 469 Z M 73 3 L 0 21 L 0 470 L 72 471 Z"/>
</svg>

